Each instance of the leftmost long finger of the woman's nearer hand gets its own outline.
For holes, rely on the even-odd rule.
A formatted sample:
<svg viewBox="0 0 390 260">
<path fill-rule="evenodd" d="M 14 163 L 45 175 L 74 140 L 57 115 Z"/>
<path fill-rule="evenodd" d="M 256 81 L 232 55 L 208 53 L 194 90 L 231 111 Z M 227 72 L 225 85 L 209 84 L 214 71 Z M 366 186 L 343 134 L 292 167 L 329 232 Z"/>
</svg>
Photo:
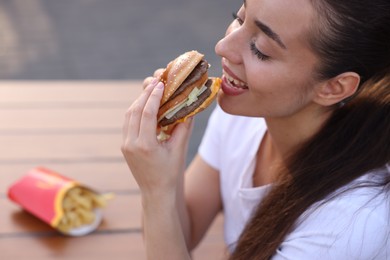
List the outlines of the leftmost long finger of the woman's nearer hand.
<svg viewBox="0 0 390 260">
<path fill-rule="evenodd" d="M 142 114 L 145 108 L 145 105 L 153 92 L 154 87 L 157 84 L 156 81 L 152 81 L 146 89 L 142 92 L 141 96 L 137 98 L 129 109 L 130 118 L 127 126 L 127 133 L 125 133 L 128 138 L 135 139 L 138 138 L 140 132 L 140 125 Z"/>
</svg>

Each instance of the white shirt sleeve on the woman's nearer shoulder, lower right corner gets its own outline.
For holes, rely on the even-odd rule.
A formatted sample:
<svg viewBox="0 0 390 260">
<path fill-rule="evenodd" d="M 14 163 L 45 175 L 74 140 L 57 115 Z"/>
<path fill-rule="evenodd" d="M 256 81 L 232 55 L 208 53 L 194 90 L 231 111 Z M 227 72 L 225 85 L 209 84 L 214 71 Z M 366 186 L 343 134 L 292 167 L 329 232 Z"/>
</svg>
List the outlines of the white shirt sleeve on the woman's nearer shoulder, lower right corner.
<svg viewBox="0 0 390 260">
<path fill-rule="evenodd" d="M 388 259 L 389 224 L 375 209 L 336 203 L 287 236 L 272 260 Z"/>
</svg>

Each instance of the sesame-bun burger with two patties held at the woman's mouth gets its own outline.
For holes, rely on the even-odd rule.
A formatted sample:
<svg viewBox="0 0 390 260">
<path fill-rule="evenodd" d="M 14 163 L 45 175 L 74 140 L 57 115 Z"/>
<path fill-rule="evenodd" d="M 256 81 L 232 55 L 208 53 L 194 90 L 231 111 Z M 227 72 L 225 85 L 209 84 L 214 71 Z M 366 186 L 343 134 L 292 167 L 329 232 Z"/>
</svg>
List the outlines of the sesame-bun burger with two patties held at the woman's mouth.
<svg viewBox="0 0 390 260">
<path fill-rule="evenodd" d="M 165 85 L 157 115 L 159 139 L 173 127 L 206 109 L 216 98 L 221 79 L 208 76 L 210 65 L 197 51 L 186 52 L 170 63 L 159 77 Z"/>
</svg>

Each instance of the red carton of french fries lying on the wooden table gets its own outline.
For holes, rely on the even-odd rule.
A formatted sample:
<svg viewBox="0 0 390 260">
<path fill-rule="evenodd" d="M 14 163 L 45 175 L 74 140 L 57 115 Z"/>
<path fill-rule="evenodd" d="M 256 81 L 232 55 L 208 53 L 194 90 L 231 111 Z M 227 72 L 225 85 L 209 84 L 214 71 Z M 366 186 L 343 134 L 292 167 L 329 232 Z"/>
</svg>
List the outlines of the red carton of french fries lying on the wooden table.
<svg viewBox="0 0 390 260">
<path fill-rule="evenodd" d="M 95 230 L 107 195 L 89 189 L 59 173 L 37 167 L 8 190 L 8 197 L 58 231 L 81 236 Z"/>
</svg>

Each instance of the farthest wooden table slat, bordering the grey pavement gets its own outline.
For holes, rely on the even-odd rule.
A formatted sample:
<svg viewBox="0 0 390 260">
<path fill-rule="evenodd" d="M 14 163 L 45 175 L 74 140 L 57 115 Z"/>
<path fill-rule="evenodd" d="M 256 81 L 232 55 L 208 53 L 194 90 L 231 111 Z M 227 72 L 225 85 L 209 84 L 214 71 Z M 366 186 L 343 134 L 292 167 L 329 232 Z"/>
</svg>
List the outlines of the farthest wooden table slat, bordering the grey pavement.
<svg viewBox="0 0 390 260">
<path fill-rule="evenodd" d="M 0 104 L 131 103 L 141 92 L 139 81 L 0 81 Z"/>
</svg>

